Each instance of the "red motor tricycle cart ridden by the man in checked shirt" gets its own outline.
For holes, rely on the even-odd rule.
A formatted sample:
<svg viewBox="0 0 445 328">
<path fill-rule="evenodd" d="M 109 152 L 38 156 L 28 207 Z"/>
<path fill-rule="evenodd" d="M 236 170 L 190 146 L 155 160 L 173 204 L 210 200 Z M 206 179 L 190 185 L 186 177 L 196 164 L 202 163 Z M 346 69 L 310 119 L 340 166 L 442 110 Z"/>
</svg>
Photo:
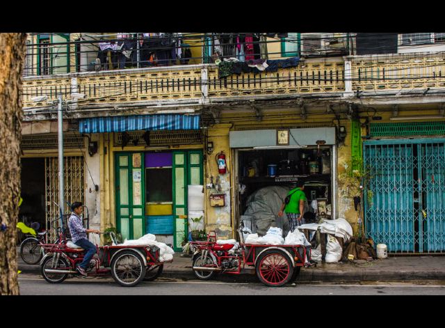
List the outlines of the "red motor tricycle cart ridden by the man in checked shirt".
<svg viewBox="0 0 445 328">
<path fill-rule="evenodd" d="M 115 244 L 115 236 L 109 233 Z M 45 256 L 40 261 L 43 278 L 49 283 L 61 283 L 70 275 L 78 275 L 76 265 L 83 260 L 83 252 L 73 242 L 62 241 L 58 244 L 43 244 Z M 87 268 L 88 276 L 111 274 L 121 286 L 136 286 L 140 281 L 152 281 L 163 270 L 164 263 L 159 261 L 159 247 L 140 246 L 97 246 L 97 252 Z"/>
</svg>

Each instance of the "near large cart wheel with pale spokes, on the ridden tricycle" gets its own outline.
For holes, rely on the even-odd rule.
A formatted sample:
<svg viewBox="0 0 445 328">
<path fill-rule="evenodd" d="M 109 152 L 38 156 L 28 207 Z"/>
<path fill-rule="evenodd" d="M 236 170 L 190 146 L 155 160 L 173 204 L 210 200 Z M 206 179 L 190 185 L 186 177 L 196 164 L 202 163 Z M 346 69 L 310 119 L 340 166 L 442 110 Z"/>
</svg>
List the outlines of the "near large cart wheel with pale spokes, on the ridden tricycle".
<svg viewBox="0 0 445 328">
<path fill-rule="evenodd" d="M 122 251 L 111 261 L 113 279 L 124 287 L 136 286 L 145 277 L 143 259 L 134 251 Z"/>
</svg>

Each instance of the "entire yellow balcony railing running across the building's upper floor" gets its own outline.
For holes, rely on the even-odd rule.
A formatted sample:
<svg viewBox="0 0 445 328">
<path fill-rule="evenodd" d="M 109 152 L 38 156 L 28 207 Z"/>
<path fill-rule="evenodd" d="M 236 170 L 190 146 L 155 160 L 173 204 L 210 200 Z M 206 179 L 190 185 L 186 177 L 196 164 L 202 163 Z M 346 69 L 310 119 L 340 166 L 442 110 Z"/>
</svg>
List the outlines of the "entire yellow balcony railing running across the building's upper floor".
<svg viewBox="0 0 445 328">
<path fill-rule="evenodd" d="M 242 73 L 220 79 L 215 64 L 72 73 L 26 77 L 24 107 L 47 107 L 57 100 L 71 100 L 73 92 L 86 95 L 79 105 L 203 104 L 212 100 L 248 100 L 286 95 L 341 95 L 366 91 L 371 94 L 404 93 L 445 88 L 445 54 L 397 54 L 350 56 L 351 87 L 346 90 L 343 58 L 301 60 L 297 67 L 277 72 Z M 47 95 L 44 102 L 32 97 Z"/>
</svg>

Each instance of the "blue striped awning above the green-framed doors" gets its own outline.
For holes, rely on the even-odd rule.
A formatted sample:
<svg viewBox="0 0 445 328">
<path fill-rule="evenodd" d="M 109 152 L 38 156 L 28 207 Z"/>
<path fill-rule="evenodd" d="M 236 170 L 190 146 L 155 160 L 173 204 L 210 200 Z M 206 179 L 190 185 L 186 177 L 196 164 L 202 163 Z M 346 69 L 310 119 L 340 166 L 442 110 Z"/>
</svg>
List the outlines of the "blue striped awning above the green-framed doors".
<svg viewBox="0 0 445 328">
<path fill-rule="evenodd" d="M 124 132 L 136 130 L 199 130 L 199 115 L 138 115 L 81 118 L 79 132 Z"/>
</svg>

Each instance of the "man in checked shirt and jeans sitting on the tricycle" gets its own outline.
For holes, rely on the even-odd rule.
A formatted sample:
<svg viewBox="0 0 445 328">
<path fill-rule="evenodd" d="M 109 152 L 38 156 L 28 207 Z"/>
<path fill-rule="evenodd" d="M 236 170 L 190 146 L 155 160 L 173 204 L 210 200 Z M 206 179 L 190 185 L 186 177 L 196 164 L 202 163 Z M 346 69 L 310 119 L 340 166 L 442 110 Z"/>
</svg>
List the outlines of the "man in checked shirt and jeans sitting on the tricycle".
<svg viewBox="0 0 445 328">
<path fill-rule="evenodd" d="M 72 203 L 71 210 L 72 213 L 70 219 L 68 219 L 68 228 L 70 228 L 72 242 L 86 250 L 85 257 L 76 270 L 82 276 L 86 276 L 86 268 L 90 264 L 92 256 L 94 256 L 96 253 L 95 245 L 88 240 L 86 234 L 100 233 L 100 231 L 83 228 L 82 219 L 80 217 L 83 212 L 83 203 L 78 201 Z"/>
</svg>

